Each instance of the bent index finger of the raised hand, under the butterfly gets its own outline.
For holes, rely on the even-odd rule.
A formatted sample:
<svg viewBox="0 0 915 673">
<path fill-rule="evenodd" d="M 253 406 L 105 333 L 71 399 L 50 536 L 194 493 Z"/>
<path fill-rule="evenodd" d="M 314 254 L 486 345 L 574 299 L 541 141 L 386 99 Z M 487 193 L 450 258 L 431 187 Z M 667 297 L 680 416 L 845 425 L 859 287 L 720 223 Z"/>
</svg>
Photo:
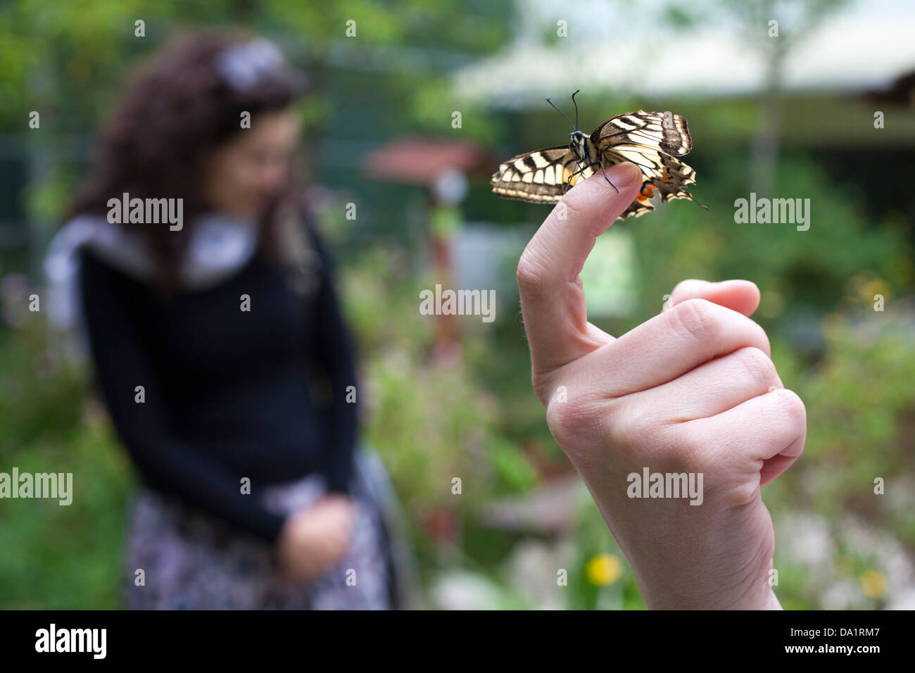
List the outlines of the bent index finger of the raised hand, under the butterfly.
<svg viewBox="0 0 915 673">
<path fill-rule="evenodd" d="M 600 233 L 639 194 L 641 170 L 629 162 L 599 172 L 568 190 L 521 255 L 518 288 L 534 374 L 590 353 L 603 342 L 587 328 L 578 274 Z M 618 191 L 619 190 L 619 191 Z"/>
</svg>

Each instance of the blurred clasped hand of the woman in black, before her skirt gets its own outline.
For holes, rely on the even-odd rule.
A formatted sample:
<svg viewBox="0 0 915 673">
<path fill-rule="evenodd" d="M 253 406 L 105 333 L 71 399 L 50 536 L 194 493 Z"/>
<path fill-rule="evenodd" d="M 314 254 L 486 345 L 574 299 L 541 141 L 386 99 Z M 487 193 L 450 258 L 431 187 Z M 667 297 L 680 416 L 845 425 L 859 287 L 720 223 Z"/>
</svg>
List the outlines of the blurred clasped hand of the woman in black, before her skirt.
<svg viewBox="0 0 915 673">
<path fill-rule="evenodd" d="M 277 558 L 290 581 L 311 581 L 339 563 L 350 547 L 354 505 L 343 494 L 328 494 L 286 518 Z"/>
</svg>

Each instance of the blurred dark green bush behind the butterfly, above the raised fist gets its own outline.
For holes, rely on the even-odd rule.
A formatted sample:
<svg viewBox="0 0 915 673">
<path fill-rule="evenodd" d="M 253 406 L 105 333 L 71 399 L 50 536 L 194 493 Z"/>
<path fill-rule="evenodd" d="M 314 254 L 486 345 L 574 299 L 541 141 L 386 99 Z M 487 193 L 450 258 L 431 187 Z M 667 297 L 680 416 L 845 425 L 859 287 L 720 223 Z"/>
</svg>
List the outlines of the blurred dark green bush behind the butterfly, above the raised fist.
<svg viewBox="0 0 915 673">
<path fill-rule="evenodd" d="M 735 223 L 734 201 L 749 198 L 740 162 L 738 155 L 723 154 L 700 172 L 691 189 L 709 212 L 673 201 L 652 219 L 614 224 L 635 233 L 644 309 L 661 309 L 663 296 L 684 278 L 747 278 L 763 294 L 755 318 L 779 331 L 800 312 L 833 309 L 845 296 L 847 279 L 862 269 L 879 270 L 893 292 L 910 286 L 911 248 L 899 226 L 891 219 L 869 223 L 853 188 L 837 188 L 801 157 L 783 160 L 777 178 L 781 196 L 810 199 L 810 229 Z M 643 319 L 637 314 L 623 327 Z"/>
</svg>

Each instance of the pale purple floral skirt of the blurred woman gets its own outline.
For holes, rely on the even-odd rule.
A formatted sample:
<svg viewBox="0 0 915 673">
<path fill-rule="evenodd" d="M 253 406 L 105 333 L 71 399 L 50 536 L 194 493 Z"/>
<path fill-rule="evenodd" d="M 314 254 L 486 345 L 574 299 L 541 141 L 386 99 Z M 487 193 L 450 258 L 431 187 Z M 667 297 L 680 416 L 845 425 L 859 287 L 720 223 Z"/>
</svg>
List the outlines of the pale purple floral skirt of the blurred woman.
<svg viewBox="0 0 915 673">
<path fill-rule="evenodd" d="M 266 508 L 288 515 L 324 494 L 324 477 L 316 473 L 264 487 L 262 497 Z M 296 582 L 278 574 L 273 548 L 262 539 L 174 496 L 143 489 L 124 559 L 124 604 L 131 610 L 391 609 L 378 505 L 358 478 L 350 495 L 355 518 L 347 556 L 316 580 Z"/>
</svg>

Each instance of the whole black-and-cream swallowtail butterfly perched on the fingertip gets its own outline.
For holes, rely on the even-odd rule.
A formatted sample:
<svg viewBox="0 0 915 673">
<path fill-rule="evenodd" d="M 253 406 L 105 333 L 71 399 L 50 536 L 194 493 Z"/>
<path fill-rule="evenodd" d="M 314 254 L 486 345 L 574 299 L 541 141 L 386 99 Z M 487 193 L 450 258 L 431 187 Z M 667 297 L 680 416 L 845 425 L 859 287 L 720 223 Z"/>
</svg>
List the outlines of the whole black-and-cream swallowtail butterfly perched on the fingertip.
<svg viewBox="0 0 915 673">
<path fill-rule="evenodd" d="M 576 93 L 572 94 L 573 103 Z M 546 101 L 553 105 L 549 98 Z M 562 114 L 572 124 L 572 120 Z M 630 161 L 641 169 L 642 183 L 639 195 L 619 216 L 621 219 L 651 212 L 654 209 L 652 200 L 659 195 L 665 202 L 673 199 L 695 201 L 692 194 L 683 189 L 684 185 L 695 184 L 695 171 L 677 158 L 689 154 L 693 148 L 693 138 L 682 116 L 636 110 L 608 119 L 597 126 L 590 137 L 577 130 L 577 120 L 576 103 L 576 124 L 569 134 L 568 146 L 546 147 L 511 157 L 492 174 L 492 191 L 506 199 L 556 203 L 566 191 L 598 170 L 604 172 L 604 178 L 610 182 L 607 168 Z M 699 201 L 695 202 L 708 210 Z"/>
</svg>

